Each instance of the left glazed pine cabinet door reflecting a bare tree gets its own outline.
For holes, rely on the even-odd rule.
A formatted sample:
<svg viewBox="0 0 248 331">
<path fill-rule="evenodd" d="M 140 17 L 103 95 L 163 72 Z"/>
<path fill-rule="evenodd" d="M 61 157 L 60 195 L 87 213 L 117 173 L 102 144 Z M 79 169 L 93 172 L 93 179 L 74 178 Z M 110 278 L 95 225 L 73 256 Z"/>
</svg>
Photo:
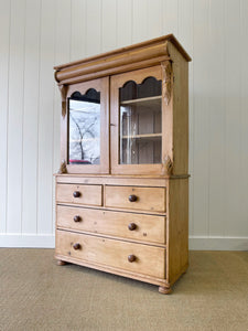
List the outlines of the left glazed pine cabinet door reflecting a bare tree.
<svg viewBox="0 0 248 331">
<path fill-rule="evenodd" d="M 64 153 L 69 173 L 108 173 L 108 78 L 69 86 Z"/>
</svg>

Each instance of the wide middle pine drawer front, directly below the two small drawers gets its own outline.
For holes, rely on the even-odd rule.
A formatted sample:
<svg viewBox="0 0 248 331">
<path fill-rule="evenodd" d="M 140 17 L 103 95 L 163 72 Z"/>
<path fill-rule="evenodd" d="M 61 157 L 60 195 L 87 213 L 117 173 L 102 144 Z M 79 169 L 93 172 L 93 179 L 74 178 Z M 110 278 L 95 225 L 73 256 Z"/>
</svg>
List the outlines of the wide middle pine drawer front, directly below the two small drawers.
<svg viewBox="0 0 248 331">
<path fill-rule="evenodd" d="M 57 205 L 57 227 L 165 244 L 165 217 Z"/>
</svg>

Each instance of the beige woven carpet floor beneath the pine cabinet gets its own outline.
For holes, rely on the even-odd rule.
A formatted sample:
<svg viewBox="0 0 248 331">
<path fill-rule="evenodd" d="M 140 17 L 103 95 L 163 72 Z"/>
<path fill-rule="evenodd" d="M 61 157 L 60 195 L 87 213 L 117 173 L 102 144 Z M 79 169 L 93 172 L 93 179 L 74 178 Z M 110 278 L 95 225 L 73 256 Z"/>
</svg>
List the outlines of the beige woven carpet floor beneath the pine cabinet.
<svg viewBox="0 0 248 331">
<path fill-rule="evenodd" d="M 248 330 L 248 252 L 191 252 L 170 296 L 53 255 L 0 249 L 1 331 Z"/>
</svg>

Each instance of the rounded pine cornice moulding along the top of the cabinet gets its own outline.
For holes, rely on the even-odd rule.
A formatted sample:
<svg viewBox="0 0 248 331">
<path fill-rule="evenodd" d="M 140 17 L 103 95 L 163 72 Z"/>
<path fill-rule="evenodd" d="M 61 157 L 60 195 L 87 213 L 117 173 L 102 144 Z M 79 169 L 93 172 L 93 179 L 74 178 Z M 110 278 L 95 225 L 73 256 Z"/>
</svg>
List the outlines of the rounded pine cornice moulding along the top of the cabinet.
<svg viewBox="0 0 248 331">
<path fill-rule="evenodd" d="M 55 79 L 58 85 L 68 85 L 158 65 L 166 60 L 173 61 L 169 53 L 170 44 L 175 46 L 185 61 L 191 61 L 190 55 L 176 38 L 168 34 L 80 61 L 57 65 L 54 67 Z"/>
</svg>

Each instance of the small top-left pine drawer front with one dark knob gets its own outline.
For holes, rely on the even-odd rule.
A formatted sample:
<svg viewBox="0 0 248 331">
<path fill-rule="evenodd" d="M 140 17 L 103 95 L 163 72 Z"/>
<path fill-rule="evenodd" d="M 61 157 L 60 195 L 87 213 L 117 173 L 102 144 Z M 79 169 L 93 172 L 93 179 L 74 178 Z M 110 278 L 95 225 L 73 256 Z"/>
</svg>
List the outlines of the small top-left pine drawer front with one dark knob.
<svg viewBox="0 0 248 331">
<path fill-rule="evenodd" d="M 57 184 L 57 202 L 101 205 L 101 185 Z"/>
</svg>

